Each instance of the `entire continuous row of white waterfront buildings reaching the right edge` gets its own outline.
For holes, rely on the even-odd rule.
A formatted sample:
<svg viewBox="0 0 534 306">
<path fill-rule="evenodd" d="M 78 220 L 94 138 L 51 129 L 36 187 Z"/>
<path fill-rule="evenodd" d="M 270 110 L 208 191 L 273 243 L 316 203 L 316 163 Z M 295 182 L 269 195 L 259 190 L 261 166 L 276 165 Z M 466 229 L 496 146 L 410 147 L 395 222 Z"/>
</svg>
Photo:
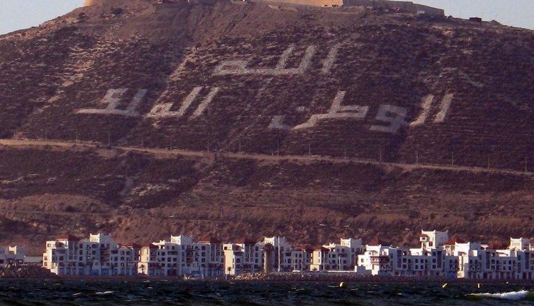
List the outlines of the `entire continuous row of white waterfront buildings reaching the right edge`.
<svg viewBox="0 0 534 306">
<path fill-rule="evenodd" d="M 450 239 L 448 231 L 421 231 L 419 248 L 341 239 L 317 247 L 293 247 L 284 237 L 263 241 L 217 239 L 120 245 L 110 235 L 61 236 L 47 241 L 44 268 L 58 275 L 240 275 L 272 272 L 332 272 L 382 276 L 470 279 L 534 279 L 534 240 L 510 239 L 508 248 Z"/>
</svg>

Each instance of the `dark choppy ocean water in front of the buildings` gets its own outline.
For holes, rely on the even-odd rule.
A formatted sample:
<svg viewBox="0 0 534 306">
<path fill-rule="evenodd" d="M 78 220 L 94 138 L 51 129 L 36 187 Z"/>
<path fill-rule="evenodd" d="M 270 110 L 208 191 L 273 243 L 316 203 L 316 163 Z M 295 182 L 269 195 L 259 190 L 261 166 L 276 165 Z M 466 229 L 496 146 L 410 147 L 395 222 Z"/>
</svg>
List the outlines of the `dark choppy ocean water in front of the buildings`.
<svg viewBox="0 0 534 306">
<path fill-rule="evenodd" d="M 534 305 L 534 284 L 0 280 L 0 305 Z"/>
</svg>

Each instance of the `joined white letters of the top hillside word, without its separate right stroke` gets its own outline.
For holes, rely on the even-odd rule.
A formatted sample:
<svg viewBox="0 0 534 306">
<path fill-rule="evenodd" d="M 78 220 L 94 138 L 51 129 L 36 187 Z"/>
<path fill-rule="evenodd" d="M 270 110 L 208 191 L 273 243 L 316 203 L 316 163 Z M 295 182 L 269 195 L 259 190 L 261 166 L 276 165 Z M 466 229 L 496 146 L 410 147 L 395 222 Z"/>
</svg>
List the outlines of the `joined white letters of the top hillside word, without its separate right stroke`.
<svg viewBox="0 0 534 306">
<path fill-rule="evenodd" d="M 312 63 L 312 58 L 316 52 L 316 46 L 309 46 L 306 49 L 305 55 L 300 61 L 300 65 L 296 68 L 286 68 L 287 61 L 291 54 L 293 54 L 294 46 L 289 47 L 282 53 L 280 60 L 278 61 L 275 68 L 248 68 L 247 61 L 223 61 L 215 70 L 213 70 L 213 75 L 244 75 L 244 74 L 261 74 L 261 75 L 293 75 L 293 74 L 304 74 L 308 69 L 310 63 Z"/>
</svg>

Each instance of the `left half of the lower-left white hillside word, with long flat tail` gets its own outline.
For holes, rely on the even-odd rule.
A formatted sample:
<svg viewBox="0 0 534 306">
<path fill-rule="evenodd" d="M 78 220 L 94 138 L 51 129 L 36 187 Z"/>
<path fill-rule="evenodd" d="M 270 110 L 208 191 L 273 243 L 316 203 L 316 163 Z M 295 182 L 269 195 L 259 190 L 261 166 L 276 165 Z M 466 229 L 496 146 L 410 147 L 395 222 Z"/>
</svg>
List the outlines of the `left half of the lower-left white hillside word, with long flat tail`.
<svg viewBox="0 0 534 306">
<path fill-rule="evenodd" d="M 118 109 L 120 101 L 124 93 L 128 91 L 128 88 L 120 89 L 110 89 L 106 92 L 106 95 L 102 99 L 102 104 L 108 104 L 104 109 L 81 109 L 77 113 L 91 113 L 99 115 L 123 115 L 127 117 L 138 117 L 140 113 L 136 111 L 143 97 L 147 94 L 146 89 L 140 89 L 136 92 L 136 95 L 133 96 L 133 99 L 128 104 L 126 109 Z"/>
</svg>

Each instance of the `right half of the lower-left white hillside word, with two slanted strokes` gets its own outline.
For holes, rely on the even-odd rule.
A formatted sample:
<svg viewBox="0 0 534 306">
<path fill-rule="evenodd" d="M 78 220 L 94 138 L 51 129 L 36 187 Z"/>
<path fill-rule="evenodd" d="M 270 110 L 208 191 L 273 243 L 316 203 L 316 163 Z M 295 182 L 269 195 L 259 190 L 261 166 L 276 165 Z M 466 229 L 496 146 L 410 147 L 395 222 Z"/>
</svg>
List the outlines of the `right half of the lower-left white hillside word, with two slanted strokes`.
<svg viewBox="0 0 534 306">
<path fill-rule="evenodd" d="M 168 117 L 181 117 L 185 115 L 186 111 L 188 110 L 189 106 L 193 104 L 195 99 L 197 99 L 198 94 L 200 93 L 200 90 L 202 90 L 202 86 L 195 87 L 193 90 L 191 90 L 191 93 L 184 99 L 183 102 L 181 102 L 181 106 L 178 109 L 178 111 L 170 111 L 170 108 L 172 107 L 172 104 L 174 103 L 165 103 L 165 104 L 158 104 L 152 108 L 152 111 L 147 115 L 149 118 L 168 118 Z M 197 117 L 199 115 L 202 115 L 202 112 L 209 106 L 211 103 L 211 100 L 213 100 L 213 97 L 217 95 L 217 92 L 219 91 L 219 88 L 212 88 L 209 92 L 209 94 L 200 102 L 200 105 L 197 107 L 195 112 L 193 113 L 193 118 Z"/>
</svg>

